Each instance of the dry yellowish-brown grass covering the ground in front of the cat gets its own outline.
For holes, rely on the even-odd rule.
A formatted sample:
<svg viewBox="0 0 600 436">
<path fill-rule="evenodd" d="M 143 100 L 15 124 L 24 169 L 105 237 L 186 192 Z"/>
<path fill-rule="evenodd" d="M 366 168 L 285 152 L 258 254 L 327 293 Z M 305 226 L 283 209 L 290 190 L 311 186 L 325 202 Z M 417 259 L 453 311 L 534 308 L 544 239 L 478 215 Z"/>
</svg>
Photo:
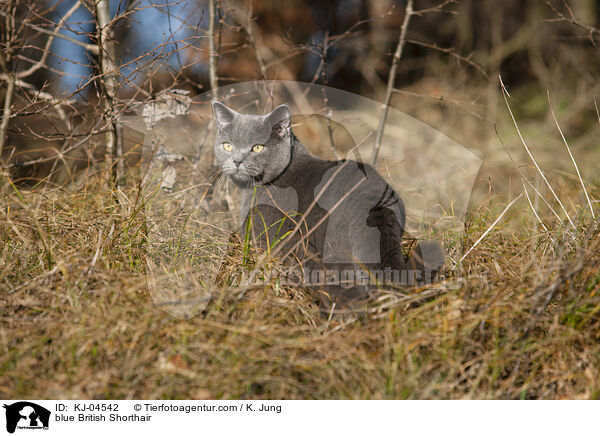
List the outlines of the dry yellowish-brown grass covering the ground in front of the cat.
<svg viewBox="0 0 600 436">
<path fill-rule="evenodd" d="M 224 288 L 180 320 L 149 298 L 133 200 L 93 180 L 44 192 L 2 178 L 1 397 L 600 397 L 597 227 L 550 215 L 534 234 L 521 201 L 456 289 L 380 295 L 363 319 L 329 320 L 302 289 Z M 446 243 L 470 247 L 505 204 L 487 198 Z M 232 256 L 222 281 L 240 267 Z"/>
</svg>

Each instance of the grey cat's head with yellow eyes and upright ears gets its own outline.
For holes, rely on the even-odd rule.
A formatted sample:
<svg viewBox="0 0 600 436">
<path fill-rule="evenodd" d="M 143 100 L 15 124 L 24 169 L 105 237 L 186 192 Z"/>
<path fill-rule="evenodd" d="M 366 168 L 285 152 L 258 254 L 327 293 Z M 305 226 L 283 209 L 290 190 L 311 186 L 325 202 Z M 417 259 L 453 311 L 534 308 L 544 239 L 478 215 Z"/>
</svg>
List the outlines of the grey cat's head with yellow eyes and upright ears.
<svg viewBox="0 0 600 436">
<path fill-rule="evenodd" d="M 290 109 L 276 107 L 266 115 L 241 114 L 212 102 L 217 120 L 215 156 L 223 172 L 238 186 L 269 183 L 290 162 Z"/>
</svg>

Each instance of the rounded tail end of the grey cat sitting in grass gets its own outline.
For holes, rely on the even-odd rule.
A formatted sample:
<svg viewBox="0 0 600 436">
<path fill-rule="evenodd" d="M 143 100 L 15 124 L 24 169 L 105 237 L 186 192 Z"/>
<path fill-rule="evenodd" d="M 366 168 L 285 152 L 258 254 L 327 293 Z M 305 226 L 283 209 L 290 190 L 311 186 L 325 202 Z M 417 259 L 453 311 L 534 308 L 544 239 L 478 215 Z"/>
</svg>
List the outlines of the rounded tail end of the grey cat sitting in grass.
<svg viewBox="0 0 600 436">
<path fill-rule="evenodd" d="M 445 255 L 442 245 L 438 241 L 421 241 L 407 259 L 409 284 L 419 286 L 433 283 L 444 266 Z"/>
</svg>

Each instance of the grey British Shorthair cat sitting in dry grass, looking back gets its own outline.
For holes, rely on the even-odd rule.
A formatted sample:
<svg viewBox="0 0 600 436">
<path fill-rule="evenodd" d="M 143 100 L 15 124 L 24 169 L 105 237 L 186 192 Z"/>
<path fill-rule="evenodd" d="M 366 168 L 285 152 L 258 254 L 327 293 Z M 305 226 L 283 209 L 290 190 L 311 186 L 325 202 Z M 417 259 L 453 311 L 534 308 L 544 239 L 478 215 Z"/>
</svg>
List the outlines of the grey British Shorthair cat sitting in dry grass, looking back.
<svg viewBox="0 0 600 436">
<path fill-rule="evenodd" d="M 347 302 L 381 285 L 431 283 L 444 263 L 439 243 L 406 258 L 402 200 L 370 165 L 311 155 L 291 129 L 286 105 L 241 114 L 213 101 L 214 151 L 242 189 L 242 233 L 293 260 L 304 284 Z"/>
</svg>

